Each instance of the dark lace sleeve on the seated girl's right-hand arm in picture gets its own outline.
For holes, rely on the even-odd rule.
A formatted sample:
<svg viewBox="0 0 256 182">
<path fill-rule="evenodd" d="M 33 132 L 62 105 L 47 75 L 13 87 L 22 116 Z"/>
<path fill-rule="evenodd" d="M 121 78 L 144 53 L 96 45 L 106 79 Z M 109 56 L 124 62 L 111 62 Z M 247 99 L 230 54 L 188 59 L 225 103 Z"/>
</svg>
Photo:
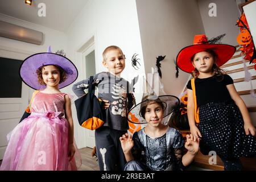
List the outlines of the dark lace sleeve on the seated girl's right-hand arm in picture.
<svg viewBox="0 0 256 182">
<path fill-rule="evenodd" d="M 184 155 L 184 139 L 179 131 L 175 131 L 174 136 L 174 156 L 175 156 L 175 169 L 179 171 L 184 170 L 184 166 L 182 163 L 182 157 Z"/>
</svg>

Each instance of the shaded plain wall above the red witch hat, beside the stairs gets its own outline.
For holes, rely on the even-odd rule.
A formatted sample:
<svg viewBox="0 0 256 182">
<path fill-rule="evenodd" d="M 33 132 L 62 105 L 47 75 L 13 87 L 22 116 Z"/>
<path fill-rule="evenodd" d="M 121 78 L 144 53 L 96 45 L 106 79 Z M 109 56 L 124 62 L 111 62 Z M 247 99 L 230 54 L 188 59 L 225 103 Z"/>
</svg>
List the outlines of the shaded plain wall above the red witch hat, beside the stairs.
<svg viewBox="0 0 256 182">
<path fill-rule="evenodd" d="M 236 1 L 233 0 L 197 0 L 204 24 L 205 34 L 213 38 L 226 33 L 222 43 L 237 46 L 237 36 L 240 32 L 236 26 L 240 17 Z M 209 3 L 216 4 L 217 16 L 209 16 Z"/>
</svg>

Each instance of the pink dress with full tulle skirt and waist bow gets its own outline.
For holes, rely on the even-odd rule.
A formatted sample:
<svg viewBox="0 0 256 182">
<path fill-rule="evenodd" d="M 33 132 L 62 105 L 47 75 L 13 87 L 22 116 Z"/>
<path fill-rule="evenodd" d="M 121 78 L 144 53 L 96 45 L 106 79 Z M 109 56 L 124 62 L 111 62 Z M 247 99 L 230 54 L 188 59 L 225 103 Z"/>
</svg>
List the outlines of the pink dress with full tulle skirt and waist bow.
<svg viewBox="0 0 256 182">
<path fill-rule="evenodd" d="M 68 158 L 68 121 L 64 118 L 65 93 L 35 95 L 31 115 L 10 134 L 0 170 L 77 170 L 81 156 L 76 148 Z"/>
</svg>

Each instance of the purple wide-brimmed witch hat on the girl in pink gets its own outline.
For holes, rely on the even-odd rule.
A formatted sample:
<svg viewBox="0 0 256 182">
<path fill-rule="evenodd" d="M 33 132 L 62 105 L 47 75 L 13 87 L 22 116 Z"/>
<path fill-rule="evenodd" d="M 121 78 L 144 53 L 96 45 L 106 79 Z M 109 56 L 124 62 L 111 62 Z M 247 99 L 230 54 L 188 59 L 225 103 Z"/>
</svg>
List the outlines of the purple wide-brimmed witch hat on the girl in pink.
<svg viewBox="0 0 256 182">
<path fill-rule="evenodd" d="M 46 85 L 41 85 L 38 82 L 38 76 L 36 70 L 43 65 L 58 65 L 63 68 L 67 74 L 67 79 L 59 84 L 59 89 L 64 88 L 72 84 L 77 76 L 77 68 L 67 57 L 58 55 L 51 52 L 49 46 L 47 52 L 36 53 L 27 57 L 19 68 L 19 75 L 22 81 L 35 90 L 42 90 L 46 88 Z"/>
</svg>

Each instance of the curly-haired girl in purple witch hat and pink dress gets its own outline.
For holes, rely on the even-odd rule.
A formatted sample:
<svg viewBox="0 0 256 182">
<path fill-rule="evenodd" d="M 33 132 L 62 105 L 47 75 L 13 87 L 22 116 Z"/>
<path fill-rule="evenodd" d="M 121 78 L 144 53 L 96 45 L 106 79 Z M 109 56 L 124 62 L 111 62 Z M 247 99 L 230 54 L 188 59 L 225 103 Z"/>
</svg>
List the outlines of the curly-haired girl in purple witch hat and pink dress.
<svg viewBox="0 0 256 182">
<path fill-rule="evenodd" d="M 76 80 L 75 65 L 48 49 L 27 57 L 20 76 L 36 89 L 31 115 L 11 132 L 0 169 L 77 170 L 81 157 L 73 139 L 71 99 L 59 90 Z"/>
</svg>

